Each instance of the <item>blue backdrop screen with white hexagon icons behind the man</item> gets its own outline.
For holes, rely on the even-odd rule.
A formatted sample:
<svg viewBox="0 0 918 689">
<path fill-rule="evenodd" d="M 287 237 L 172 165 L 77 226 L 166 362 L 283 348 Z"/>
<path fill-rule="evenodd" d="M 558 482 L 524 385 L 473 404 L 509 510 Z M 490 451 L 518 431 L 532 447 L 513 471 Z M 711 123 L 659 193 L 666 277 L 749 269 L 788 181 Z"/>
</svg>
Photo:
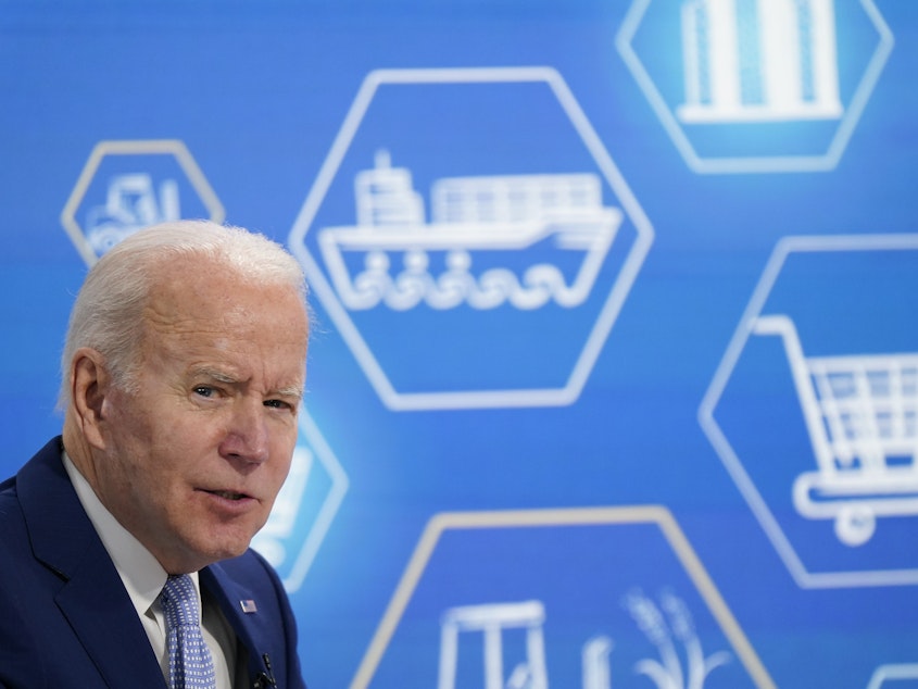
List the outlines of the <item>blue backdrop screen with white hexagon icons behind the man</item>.
<svg viewBox="0 0 918 689">
<path fill-rule="evenodd" d="M 87 270 L 261 231 L 311 687 L 918 686 L 918 3 L 0 5 L 0 474 Z"/>
</svg>

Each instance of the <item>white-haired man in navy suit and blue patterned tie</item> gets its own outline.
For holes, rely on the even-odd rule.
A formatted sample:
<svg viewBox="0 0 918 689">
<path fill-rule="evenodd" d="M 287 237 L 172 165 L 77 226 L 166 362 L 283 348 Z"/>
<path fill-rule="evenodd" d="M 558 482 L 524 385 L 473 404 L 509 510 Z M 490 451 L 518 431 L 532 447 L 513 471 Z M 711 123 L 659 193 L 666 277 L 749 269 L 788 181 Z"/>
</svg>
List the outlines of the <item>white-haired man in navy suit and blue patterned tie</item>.
<svg viewBox="0 0 918 689">
<path fill-rule="evenodd" d="M 295 444 L 305 296 L 279 246 L 208 222 L 140 230 L 93 266 L 63 436 L 0 484 L 0 686 L 304 687 L 289 601 L 249 542 Z"/>
</svg>

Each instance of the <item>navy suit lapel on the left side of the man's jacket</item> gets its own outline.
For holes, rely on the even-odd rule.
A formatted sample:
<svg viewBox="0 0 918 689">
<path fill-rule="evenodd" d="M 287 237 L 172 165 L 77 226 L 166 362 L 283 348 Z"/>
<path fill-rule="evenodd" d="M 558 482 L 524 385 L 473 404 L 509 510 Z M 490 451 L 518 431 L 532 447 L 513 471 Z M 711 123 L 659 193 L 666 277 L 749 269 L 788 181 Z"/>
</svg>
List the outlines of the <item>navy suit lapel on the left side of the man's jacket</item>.
<svg viewBox="0 0 918 689">
<path fill-rule="evenodd" d="M 61 578 L 55 601 L 110 687 L 163 687 L 130 597 L 61 461 L 60 439 L 20 472 L 16 486 L 36 558 Z"/>
</svg>

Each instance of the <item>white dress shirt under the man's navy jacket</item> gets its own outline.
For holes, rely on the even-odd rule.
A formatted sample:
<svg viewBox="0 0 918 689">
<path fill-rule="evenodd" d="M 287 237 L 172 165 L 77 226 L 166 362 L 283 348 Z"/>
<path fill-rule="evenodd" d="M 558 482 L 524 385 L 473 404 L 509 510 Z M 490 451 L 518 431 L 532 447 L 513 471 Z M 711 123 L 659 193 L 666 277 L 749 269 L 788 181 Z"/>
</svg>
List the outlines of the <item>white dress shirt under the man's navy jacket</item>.
<svg viewBox="0 0 918 689">
<path fill-rule="evenodd" d="M 163 569 L 153 554 L 147 550 L 121 523 L 105 509 L 89 481 L 79 473 L 73 461 L 64 453 L 64 466 L 76 490 L 83 509 L 102 539 L 109 556 L 121 576 L 143 630 L 150 639 L 153 652 L 160 661 L 163 676 L 168 681 L 168 650 L 166 649 L 165 615 L 160 605 L 160 592 L 166 584 L 168 573 Z M 201 602 L 201 585 L 198 573 L 191 573 L 198 601 Z M 211 650 L 216 673 L 217 689 L 231 689 L 230 677 L 244 677 L 244 668 L 236 668 L 236 635 L 224 617 L 218 605 L 205 597 L 202 611 L 201 632 Z M 234 668 L 230 671 L 230 668 Z"/>
</svg>

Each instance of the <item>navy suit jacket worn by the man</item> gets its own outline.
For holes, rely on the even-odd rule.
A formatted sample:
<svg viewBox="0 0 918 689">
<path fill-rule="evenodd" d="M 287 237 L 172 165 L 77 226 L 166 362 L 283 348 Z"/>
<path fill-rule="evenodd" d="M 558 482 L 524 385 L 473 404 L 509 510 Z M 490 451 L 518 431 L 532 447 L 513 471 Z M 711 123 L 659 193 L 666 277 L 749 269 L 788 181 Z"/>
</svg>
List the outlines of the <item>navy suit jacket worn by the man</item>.
<svg viewBox="0 0 918 689">
<path fill-rule="evenodd" d="M 0 484 L 0 687 L 163 689 L 137 612 L 61 459 L 61 439 Z M 254 551 L 200 573 L 236 631 L 249 687 L 305 685 L 297 628 L 275 572 Z M 240 601 L 254 601 L 246 613 Z M 232 674 L 232 669 L 230 669 Z"/>
</svg>

